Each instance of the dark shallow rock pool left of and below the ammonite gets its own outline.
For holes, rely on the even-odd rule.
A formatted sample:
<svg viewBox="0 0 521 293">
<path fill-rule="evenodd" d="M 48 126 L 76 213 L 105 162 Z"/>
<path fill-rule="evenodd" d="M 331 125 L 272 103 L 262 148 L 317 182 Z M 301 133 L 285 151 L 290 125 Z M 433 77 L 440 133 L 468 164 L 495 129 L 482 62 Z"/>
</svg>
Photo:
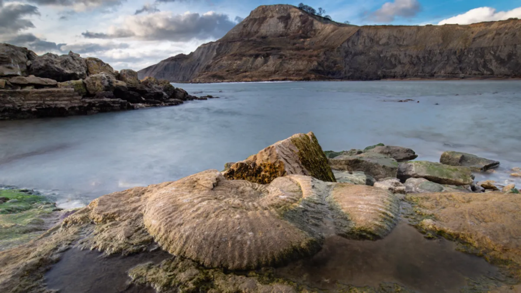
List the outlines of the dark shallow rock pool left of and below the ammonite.
<svg viewBox="0 0 521 293">
<path fill-rule="evenodd" d="M 155 293 L 151 287 L 130 284 L 127 272 L 138 264 L 159 263 L 170 256 L 158 250 L 128 257 L 104 257 L 96 251 L 70 249 L 45 274 L 45 283 L 60 293 Z"/>
</svg>

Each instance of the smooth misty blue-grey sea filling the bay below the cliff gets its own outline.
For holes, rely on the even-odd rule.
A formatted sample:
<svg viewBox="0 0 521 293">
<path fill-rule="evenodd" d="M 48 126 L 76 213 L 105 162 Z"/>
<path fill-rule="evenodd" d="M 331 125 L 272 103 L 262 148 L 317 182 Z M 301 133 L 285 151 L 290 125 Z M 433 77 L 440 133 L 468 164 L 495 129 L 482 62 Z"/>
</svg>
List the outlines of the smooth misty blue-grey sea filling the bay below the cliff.
<svg viewBox="0 0 521 293">
<path fill-rule="evenodd" d="M 487 176 L 503 185 L 514 180 L 507 171 L 521 167 L 521 81 L 176 86 L 221 99 L 1 121 L 0 185 L 55 193 L 61 206 L 78 206 L 109 192 L 222 169 L 308 131 L 325 150 L 383 142 L 412 148 L 421 160 L 438 161 L 446 150 L 485 156 L 501 161 L 498 173 Z M 415 101 L 396 102 L 404 99 Z"/>
</svg>

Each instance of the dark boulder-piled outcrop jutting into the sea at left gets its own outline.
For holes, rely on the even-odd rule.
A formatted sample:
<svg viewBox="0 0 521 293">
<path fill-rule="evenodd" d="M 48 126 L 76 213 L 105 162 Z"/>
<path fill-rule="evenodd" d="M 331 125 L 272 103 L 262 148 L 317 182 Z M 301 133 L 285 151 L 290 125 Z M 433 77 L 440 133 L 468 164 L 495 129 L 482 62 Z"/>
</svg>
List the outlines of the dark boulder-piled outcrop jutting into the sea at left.
<svg viewBox="0 0 521 293">
<path fill-rule="evenodd" d="M 0 120 L 90 115 L 144 107 L 176 106 L 196 97 L 166 80 L 138 79 L 79 54 L 42 56 L 0 44 Z"/>
</svg>

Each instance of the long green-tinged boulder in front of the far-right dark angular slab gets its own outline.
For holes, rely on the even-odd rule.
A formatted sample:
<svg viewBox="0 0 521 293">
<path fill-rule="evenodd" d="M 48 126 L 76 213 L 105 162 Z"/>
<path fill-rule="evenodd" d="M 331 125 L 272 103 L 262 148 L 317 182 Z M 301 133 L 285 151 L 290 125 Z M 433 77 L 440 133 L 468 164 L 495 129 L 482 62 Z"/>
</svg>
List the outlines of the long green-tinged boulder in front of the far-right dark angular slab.
<svg viewBox="0 0 521 293">
<path fill-rule="evenodd" d="M 468 167 L 449 166 L 427 161 L 407 162 L 400 164 L 398 178 L 425 178 L 429 181 L 447 185 L 470 185 L 474 182 Z"/>
</svg>

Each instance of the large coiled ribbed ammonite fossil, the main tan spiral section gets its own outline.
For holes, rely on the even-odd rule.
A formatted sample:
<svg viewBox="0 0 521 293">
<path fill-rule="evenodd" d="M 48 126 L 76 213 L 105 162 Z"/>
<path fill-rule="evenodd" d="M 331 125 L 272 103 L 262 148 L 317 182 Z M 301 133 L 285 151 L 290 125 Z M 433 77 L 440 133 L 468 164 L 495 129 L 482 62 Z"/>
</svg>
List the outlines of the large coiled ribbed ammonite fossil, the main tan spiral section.
<svg viewBox="0 0 521 293">
<path fill-rule="evenodd" d="M 287 177 L 270 185 L 207 170 L 149 194 L 143 219 L 163 249 L 207 267 L 244 270 L 314 253 L 320 238 L 284 219 L 302 198 Z"/>
</svg>

